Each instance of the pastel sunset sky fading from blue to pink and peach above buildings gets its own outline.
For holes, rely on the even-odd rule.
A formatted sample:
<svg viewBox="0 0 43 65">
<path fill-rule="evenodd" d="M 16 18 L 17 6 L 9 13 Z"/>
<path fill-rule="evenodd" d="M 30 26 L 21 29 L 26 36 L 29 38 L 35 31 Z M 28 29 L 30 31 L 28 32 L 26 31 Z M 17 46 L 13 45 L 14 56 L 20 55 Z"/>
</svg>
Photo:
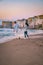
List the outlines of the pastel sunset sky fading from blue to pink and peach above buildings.
<svg viewBox="0 0 43 65">
<path fill-rule="evenodd" d="M 43 14 L 43 0 L 0 0 L 0 19 L 17 20 Z"/>
</svg>

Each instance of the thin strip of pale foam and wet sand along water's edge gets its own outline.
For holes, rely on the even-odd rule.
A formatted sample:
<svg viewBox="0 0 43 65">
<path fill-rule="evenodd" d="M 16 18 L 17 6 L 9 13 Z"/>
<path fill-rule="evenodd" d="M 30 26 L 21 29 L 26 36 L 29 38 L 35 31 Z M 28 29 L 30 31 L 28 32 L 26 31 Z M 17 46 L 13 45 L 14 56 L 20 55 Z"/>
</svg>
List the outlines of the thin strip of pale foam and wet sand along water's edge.
<svg viewBox="0 0 43 65">
<path fill-rule="evenodd" d="M 1 43 L 6 43 L 6 42 L 9 42 L 9 41 L 12 41 L 13 39 L 25 39 L 24 37 L 14 37 L 14 36 L 7 36 L 7 37 L 3 37 L 0 39 L 0 44 Z M 34 39 L 34 38 L 43 38 L 43 34 L 34 34 L 34 35 L 29 35 L 29 38 L 26 38 L 26 39 Z M 3 41 L 2 41 L 3 40 Z"/>
</svg>

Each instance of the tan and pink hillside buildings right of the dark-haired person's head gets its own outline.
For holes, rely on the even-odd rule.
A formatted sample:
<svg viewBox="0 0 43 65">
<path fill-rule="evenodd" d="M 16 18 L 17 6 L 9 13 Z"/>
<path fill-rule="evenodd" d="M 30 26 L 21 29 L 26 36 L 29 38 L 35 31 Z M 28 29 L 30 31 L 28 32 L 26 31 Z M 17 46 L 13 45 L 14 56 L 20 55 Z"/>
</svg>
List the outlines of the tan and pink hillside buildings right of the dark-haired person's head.
<svg viewBox="0 0 43 65">
<path fill-rule="evenodd" d="M 29 28 L 39 28 L 43 27 L 43 15 L 38 15 L 34 17 L 30 17 L 27 19 L 29 23 Z"/>
</svg>

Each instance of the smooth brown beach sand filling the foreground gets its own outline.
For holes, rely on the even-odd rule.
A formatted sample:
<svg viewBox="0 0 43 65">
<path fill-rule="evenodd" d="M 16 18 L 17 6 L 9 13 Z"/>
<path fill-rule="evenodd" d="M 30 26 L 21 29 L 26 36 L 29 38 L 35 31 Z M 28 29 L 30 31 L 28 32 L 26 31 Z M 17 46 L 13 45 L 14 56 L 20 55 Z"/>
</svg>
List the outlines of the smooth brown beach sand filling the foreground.
<svg viewBox="0 0 43 65">
<path fill-rule="evenodd" d="M 43 65 L 43 38 L 0 44 L 0 65 Z"/>
</svg>

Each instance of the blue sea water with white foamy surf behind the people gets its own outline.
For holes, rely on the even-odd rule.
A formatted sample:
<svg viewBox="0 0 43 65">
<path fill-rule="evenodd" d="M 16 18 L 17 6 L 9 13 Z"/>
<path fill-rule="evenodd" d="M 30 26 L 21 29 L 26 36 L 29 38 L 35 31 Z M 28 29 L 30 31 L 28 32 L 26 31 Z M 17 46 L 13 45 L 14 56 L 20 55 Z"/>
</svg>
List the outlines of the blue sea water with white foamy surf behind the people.
<svg viewBox="0 0 43 65">
<path fill-rule="evenodd" d="M 18 29 L 18 32 L 14 32 L 14 29 L 0 28 L 0 43 L 15 39 L 24 38 L 24 28 Z M 43 34 L 43 30 L 30 30 L 28 29 L 28 35 Z"/>
</svg>

